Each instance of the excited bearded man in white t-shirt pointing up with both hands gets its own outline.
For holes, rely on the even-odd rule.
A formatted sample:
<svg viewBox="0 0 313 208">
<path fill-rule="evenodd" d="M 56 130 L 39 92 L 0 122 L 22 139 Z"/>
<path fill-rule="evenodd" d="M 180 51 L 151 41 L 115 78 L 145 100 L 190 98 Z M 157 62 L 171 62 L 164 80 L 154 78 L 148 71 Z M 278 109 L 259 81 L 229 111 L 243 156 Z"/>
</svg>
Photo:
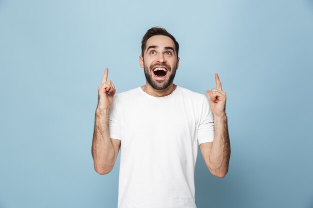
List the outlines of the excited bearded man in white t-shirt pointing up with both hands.
<svg viewBox="0 0 313 208">
<path fill-rule="evenodd" d="M 178 43 L 165 29 L 142 38 L 140 67 L 146 84 L 115 94 L 104 71 L 98 87 L 92 157 L 99 174 L 109 173 L 120 151 L 118 208 L 196 208 L 194 168 L 199 144 L 208 170 L 228 171 L 230 144 L 226 94 L 199 93 L 173 84 Z"/>
</svg>

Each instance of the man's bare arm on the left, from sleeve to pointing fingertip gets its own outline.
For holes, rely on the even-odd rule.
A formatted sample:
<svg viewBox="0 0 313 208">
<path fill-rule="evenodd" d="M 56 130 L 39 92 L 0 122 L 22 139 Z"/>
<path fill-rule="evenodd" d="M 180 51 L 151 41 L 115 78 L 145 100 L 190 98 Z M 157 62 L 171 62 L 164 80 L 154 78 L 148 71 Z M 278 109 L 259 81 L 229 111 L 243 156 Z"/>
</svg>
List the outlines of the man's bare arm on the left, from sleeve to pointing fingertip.
<svg viewBox="0 0 313 208">
<path fill-rule="evenodd" d="M 120 140 L 110 139 L 108 130 L 108 112 L 116 92 L 113 83 L 107 81 L 108 69 L 104 71 L 102 83 L 98 87 L 98 105 L 94 115 L 94 129 L 91 154 L 94 170 L 98 174 L 109 173 L 115 164 Z"/>
</svg>

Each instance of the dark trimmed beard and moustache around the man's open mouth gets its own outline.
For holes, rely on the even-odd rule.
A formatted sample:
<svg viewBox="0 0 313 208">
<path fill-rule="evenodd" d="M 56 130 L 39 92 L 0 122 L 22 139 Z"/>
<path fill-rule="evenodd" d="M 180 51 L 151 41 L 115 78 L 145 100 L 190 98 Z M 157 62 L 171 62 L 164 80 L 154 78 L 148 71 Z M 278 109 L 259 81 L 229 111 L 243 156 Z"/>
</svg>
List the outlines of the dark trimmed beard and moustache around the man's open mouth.
<svg viewBox="0 0 313 208">
<path fill-rule="evenodd" d="M 165 80 L 154 80 L 152 78 L 153 76 L 153 71 L 152 71 L 152 68 L 154 66 L 166 66 L 167 69 L 168 69 L 168 74 L 167 74 L 167 79 Z M 151 87 L 153 89 L 156 89 L 156 90 L 164 90 L 166 89 L 170 83 L 173 82 L 174 80 L 174 77 L 175 77 L 175 74 L 176 74 L 176 68 L 177 68 L 177 63 L 175 64 L 173 70 L 171 69 L 171 67 L 167 64 L 153 64 L 151 65 L 150 67 L 146 66 L 143 62 L 143 68 L 144 68 L 144 76 L 145 76 L 145 79 L 147 80 L 147 82 L 149 83 L 149 85 L 151 85 Z"/>
</svg>

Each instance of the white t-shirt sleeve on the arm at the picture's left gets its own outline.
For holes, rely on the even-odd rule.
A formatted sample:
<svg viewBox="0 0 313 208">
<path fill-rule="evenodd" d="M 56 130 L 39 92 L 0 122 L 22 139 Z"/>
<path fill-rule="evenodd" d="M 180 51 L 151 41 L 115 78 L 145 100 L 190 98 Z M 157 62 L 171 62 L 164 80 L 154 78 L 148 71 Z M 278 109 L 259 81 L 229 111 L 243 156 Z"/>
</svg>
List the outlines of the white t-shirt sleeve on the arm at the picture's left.
<svg viewBox="0 0 313 208">
<path fill-rule="evenodd" d="M 108 129 L 109 129 L 109 134 L 110 134 L 111 139 L 121 140 L 115 98 L 113 99 L 113 103 L 108 113 Z"/>
</svg>

